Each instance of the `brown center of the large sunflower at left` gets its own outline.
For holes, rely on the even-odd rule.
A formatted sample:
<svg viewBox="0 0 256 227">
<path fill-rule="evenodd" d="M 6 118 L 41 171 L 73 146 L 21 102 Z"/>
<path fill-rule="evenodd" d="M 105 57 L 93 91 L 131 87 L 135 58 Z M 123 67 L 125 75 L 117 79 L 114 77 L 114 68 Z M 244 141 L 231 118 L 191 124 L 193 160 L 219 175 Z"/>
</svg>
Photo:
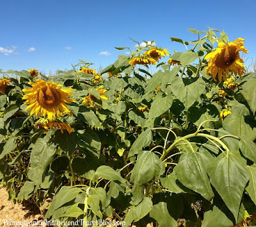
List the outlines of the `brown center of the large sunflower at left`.
<svg viewBox="0 0 256 227">
<path fill-rule="evenodd" d="M 38 103 L 42 106 L 57 106 L 61 101 L 60 91 L 53 87 L 45 86 L 38 92 Z"/>
</svg>

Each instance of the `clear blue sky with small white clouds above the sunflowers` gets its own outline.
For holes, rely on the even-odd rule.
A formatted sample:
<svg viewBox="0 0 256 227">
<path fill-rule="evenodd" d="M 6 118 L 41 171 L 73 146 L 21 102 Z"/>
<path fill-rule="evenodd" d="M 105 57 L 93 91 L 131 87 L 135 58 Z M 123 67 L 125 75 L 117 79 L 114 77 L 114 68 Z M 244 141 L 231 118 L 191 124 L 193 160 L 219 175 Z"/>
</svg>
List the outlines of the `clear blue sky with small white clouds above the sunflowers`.
<svg viewBox="0 0 256 227">
<path fill-rule="evenodd" d="M 185 48 L 171 36 L 192 41 L 197 37 L 188 28 L 206 26 L 225 29 L 230 41 L 245 38 L 247 65 L 256 57 L 255 0 L 8 0 L 0 6 L 3 71 L 35 68 L 47 74 L 69 70 L 79 59 L 104 68 L 125 54 L 114 47 L 134 47 L 129 37 L 156 40 L 172 54 Z"/>
</svg>

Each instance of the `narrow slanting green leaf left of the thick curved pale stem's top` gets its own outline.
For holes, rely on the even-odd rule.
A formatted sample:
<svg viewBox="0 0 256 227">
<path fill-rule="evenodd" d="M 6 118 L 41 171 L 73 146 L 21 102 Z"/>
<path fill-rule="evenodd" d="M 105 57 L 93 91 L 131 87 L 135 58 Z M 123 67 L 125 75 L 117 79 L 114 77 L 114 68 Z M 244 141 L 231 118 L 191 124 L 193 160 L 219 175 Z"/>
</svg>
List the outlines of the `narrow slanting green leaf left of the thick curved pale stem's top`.
<svg viewBox="0 0 256 227">
<path fill-rule="evenodd" d="M 128 157 L 132 157 L 135 154 L 139 154 L 143 147 L 147 147 L 152 143 L 153 136 L 152 136 L 152 131 L 150 128 L 147 130 L 143 131 L 140 136 L 135 140 L 135 142 L 132 144 L 132 147 L 129 151 Z"/>
</svg>

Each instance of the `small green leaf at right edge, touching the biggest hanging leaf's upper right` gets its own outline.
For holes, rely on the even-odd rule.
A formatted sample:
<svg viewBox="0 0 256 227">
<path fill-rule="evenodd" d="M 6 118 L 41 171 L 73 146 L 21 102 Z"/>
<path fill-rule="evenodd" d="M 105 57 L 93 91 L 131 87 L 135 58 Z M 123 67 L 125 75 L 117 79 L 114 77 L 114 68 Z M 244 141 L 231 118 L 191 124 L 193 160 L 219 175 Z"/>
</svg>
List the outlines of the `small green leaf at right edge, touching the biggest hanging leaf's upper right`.
<svg viewBox="0 0 256 227">
<path fill-rule="evenodd" d="M 252 140 L 241 136 L 239 147 L 245 157 L 248 157 L 253 163 L 256 163 L 256 145 Z"/>
</svg>

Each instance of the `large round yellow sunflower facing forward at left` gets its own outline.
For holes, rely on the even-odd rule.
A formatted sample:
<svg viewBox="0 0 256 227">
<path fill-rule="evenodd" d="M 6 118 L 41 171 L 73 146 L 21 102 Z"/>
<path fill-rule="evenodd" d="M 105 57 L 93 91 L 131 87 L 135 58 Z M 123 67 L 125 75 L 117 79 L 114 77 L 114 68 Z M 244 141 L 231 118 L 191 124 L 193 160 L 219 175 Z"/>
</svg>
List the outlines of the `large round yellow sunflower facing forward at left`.
<svg viewBox="0 0 256 227">
<path fill-rule="evenodd" d="M 31 108 L 30 115 L 35 114 L 36 117 L 40 115 L 46 117 L 47 115 L 49 121 L 52 121 L 55 119 L 55 112 L 58 117 L 62 114 L 70 114 L 66 103 L 74 101 L 68 98 L 68 96 L 72 96 L 70 94 L 72 88 L 61 89 L 61 85 L 44 80 L 36 80 L 36 82 L 29 82 L 28 84 L 32 88 L 22 90 L 28 93 L 22 99 L 27 99 L 23 105 L 29 105 L 25 110 Z"/>
</svg>

